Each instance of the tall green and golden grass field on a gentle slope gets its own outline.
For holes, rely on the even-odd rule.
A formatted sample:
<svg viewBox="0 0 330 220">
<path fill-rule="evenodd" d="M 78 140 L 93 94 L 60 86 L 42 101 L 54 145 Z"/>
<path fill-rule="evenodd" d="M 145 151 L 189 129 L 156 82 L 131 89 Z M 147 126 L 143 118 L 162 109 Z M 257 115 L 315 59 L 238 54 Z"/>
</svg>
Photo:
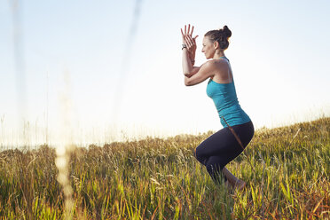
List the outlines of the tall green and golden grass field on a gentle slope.
<svg viewBox="0 0 330 220">
<path fill-rule="evenodd" d="M 329 219 L 330 118 L 256 130 L 226 167 L 241 192 L 215 185 L 193 150 L 200 136 L 75 146 L 69 179 L 74 219 Z M 0 153 L 2 219 L 60 219 L 55 149 Z M 249 162 L 250 161 L 250 162 Z M 252 166 L 251 166 L 252 165 Z"/>
</svg>

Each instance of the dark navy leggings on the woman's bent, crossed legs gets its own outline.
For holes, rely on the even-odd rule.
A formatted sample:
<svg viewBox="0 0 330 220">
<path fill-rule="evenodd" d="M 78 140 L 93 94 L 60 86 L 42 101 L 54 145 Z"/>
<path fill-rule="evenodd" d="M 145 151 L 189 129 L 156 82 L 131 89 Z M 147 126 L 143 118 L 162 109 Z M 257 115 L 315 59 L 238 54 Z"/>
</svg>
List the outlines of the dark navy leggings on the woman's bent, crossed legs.
<svg viewBox="0 0 330 220">
<path fill-rule="evenodd" d="M 240 138 L 244 148 L 255 134 L 255 128 L 251 121 L 234 125 L 232 129 Z M 243 149 L 232 131 L 225 127 L 198 145 L 195 150 L 195 157 L 201 164 L 206 166 L 208 174 L 216 182 L 220 181 L 219 177 L 224 177 L 221 172 L 224 166 L 242 152 Z M 227 180 L 226 177 L 224 177 L 224 180 Z"/>
</svg>

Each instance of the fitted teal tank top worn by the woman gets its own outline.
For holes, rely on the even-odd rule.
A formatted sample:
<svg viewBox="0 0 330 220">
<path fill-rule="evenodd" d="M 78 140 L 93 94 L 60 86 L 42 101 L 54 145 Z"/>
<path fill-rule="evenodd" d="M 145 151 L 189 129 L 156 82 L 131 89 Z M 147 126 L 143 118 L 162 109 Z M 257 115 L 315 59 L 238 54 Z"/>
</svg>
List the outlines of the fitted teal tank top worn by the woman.
<svg viewBox="0 0 330 220">
<path fill-rule="evenodd" d="M 222 57 L 228 61 L 229 59 Z M 232 68 L 231 68 L 232 70 Z M 207 94 L 213 99 L 216 105 L 217 113 L 220 117 L 220 122 L 224 127 L 228 127 L 224 120 L 230 125 L 238 125 L 251 121 L 243 109 L 240 107 L 239 100 L 236 95 L 235 83 L 216 83 L 212 79 L 208 81 Z M 224 117 L 224 119 L 222 118 Z"/>
</svg>

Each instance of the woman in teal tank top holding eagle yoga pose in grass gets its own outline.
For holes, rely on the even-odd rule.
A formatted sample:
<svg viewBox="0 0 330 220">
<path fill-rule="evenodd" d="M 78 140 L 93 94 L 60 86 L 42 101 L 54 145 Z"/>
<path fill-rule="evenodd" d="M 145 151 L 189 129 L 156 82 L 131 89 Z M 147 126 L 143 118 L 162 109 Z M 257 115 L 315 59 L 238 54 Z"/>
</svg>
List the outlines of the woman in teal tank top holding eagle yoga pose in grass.
<svg viewBox="0 0 330 220">
<path fill-rule="evenodd" d="M 204 140 L 195 149 L 194 156 L 201 164 L 206 166 L 208 174 L 219 183 L 224 175 L 226 185 L 243 189 L 246 183 L 224 166 L 243 152 L 255 134 L 255 129 L 248 114 L 240 107 L 232 76 L 232 67 L 224 55 L 228 48 L 228 39 L 232 32 L 224 26 L 222 29 L 210 30 L 204 35 L 202 52 L 206 59 L 210 59 L 200 67 L 193 67 L 196 52 L 196 36 L 193 27 L 183 36 L 182 65 L 185 75 L 185 85 L 191 86 L 201 83 L 209 78 L 207 94 L 212 98 L 224 126 L 212 136 Z"/>
</svg>

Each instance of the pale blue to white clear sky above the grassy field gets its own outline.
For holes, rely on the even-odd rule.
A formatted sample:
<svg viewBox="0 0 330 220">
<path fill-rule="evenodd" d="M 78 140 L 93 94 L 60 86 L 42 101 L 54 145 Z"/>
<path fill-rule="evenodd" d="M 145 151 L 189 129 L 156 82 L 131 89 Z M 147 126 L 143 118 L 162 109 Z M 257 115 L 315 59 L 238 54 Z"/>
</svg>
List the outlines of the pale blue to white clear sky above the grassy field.
<svg viewBox="0 0 330 220">
<path fill-rule="evenodd" d="M 222 129 L 207 81 L 184 84 L 180 28 L 188 23 L 200 35 L 195 65 L 206 61 L 200 50 L 208 30 L 232 30 L 225 55 L 255 129 L 330 114 L 327 0 L 142 0 L 138 16 L 137 1 L 30 0 L 20 1 L 18 23 L 11 3 L 0 1 L 3 144 L 20 139 L 23 114 L 28 141 L 43 143 L 46 127 L 55 139 L 63 126 L 63 95 L 81 143 Z M 14 24 L 20 25 L 16 53 Z"/>
</svg>

